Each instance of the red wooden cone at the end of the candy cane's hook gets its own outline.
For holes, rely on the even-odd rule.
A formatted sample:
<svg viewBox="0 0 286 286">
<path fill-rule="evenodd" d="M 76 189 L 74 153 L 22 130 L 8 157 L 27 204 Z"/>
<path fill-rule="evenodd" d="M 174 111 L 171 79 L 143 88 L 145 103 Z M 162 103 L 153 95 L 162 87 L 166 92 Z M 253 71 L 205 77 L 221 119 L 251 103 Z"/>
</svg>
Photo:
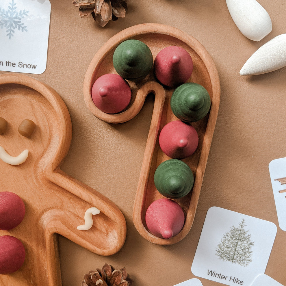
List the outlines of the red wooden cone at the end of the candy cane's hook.
<svg viewBox="0 0 286 286">
<path fill-rule="evenodd" d="M 131 89 L 125 79 L 116 74 L 102 75 L 94 82 L 92 101 L 105 113 L 115 114 L 127 107 L 131 100 Z"/>
</svg>

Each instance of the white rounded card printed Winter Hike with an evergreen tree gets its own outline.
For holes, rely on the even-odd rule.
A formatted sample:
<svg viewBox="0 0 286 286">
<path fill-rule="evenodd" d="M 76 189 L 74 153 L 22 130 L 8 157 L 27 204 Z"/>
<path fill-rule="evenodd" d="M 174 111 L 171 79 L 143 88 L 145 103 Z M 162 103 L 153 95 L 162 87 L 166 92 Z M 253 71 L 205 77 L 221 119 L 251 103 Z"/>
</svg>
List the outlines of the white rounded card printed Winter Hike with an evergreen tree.
<svg viewBox="0 0 286 286">
<path fill-rule="evenodd" d="M 265 272 L 276 232 L 272 222 L 211 207 L 200 235 L 192 273 L 226 285 L 250 286 Z"/>
</svg>

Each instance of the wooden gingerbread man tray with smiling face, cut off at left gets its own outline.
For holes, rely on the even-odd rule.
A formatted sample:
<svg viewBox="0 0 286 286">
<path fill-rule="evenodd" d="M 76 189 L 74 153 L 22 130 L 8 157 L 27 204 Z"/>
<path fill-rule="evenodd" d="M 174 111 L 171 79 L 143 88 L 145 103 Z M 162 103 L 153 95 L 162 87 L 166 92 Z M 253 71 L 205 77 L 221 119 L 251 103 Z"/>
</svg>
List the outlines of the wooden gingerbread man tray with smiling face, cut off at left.
<svg viewBox="0 0 286 286">
<path fill-rule="evenodd" d="M 0 145 L 7 153 L 1 153 L 1 192 L 18 195 L 26 209 L 18 226 L 0 231 L 0 238 L 19 239 L 26 252 L 21 268 L 0 275 L 0 284 L 58 286 L 61 275 L 55 234 L 98 255 L 112 255 L 125 242 L 125 218 L 99 192 L 60 170 L 72 128 L 68 109 L 54 90 L 29 76 L 3 74 L 0 106 L 0 117 L 6 121 Z M 23 120 L 35 124 L 26 134 L 18 132 Z M 25 150 L 19 161 L 18 155 Z M 90 208 L 100 211 L 94 212 L 98 214 L 93 216 L 93 225 L 89 230 L 77 229 L 85 224 L 85 213 Z"/>
</svg>

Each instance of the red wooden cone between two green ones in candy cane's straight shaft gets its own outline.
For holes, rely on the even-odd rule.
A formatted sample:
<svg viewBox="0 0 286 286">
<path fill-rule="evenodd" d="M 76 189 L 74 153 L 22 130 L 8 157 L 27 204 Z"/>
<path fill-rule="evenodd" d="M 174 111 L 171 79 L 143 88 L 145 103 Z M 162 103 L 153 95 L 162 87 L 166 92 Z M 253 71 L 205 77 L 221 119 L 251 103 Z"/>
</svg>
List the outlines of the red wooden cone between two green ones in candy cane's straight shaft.
<svg viewBox="0 0 286 286">
<path fill-rule="evenodd" d="M 194 127 L 181 121 L 166 124 L 159 135 L 161 150 L 170 158 L 184 159 L 198 147 L 198 133 Z"/>
</svg>

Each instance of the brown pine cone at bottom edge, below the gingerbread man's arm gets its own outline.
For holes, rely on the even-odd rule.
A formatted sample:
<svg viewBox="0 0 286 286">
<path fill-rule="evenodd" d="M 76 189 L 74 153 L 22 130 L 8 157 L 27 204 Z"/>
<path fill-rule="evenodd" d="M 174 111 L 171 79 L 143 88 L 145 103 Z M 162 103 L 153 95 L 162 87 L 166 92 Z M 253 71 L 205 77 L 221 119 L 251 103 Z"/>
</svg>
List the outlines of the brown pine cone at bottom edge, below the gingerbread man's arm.
<svg viewBox="0 0 286 286">
<path fill-rule="evenodd" d="M 115 270 L 107 263 L 101 270 L 90 270 L 84 275 L 83 280 L 81 286 L 131 286 L 132 284 L 125 267 Z"/>
</svg>

